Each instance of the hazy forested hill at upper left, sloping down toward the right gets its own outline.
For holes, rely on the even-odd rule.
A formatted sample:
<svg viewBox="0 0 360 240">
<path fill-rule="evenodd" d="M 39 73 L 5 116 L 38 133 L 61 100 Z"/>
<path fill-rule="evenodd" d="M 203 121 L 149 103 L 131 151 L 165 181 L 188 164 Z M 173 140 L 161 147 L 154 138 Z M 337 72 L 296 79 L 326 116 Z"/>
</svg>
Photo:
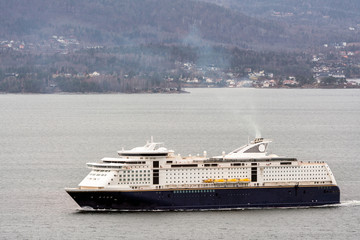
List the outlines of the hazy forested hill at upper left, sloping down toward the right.
<svg viewBox="0 0 360 240">
<path fill-rule="evenodd" d="M 305 43 L 282 24 L 190 0 L 0 0 L 0 39 L 73 36 L 101 45 L 191 43 L 270 48 Z"/>
</svg>

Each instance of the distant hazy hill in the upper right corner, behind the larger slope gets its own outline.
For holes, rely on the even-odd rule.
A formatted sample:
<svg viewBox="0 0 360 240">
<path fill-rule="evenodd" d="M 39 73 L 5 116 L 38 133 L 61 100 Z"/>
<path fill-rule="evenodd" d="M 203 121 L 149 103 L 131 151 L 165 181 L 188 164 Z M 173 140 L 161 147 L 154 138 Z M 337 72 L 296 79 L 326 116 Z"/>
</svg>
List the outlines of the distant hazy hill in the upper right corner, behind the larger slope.
<svg viewBox="0 0 360 240">
<path fill-rule="evenodd" d="M 359 0 L 199 0 L 277 22 L 307 45 L 357 42 Z M 295 40 L 295 42 L 297 42 Z"/>
</svg>

